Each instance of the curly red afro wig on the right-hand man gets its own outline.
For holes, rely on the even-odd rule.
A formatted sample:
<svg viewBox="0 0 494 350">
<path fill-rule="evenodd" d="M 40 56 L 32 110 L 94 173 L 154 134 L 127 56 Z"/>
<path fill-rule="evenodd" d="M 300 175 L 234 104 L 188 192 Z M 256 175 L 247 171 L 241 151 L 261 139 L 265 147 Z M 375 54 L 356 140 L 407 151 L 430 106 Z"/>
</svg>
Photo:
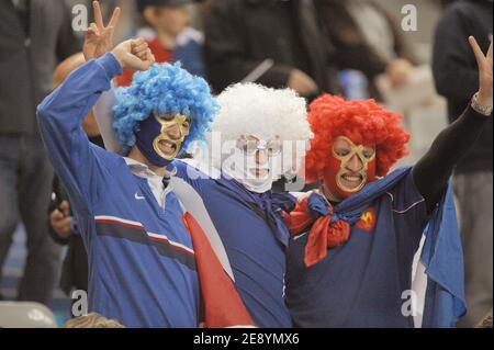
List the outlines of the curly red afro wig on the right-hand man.
<svg viewBox="0 0 494 350">
<path fill-rule="evenodd" d="M 374 145 L 377 176 L 408 154 L 409 134 L 400 124 L 403 115 L 386 111 L 374 100 L 345 101 L 324 94 L 310 105 L 308 122 L 314 138 L 305 159 L 307 182 L 323 179 L 328 166 L 333 139 L 346 136 L 360 145 Z"/>
</svg>

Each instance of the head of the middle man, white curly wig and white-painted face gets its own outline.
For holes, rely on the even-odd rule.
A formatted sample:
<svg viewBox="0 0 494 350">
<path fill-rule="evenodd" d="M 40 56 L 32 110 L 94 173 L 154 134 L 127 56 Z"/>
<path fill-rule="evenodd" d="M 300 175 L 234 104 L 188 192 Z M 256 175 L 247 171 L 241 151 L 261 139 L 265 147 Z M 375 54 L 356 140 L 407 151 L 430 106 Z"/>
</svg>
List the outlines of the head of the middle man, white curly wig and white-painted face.
<svg viewBox="0 0 494 350">
<path fill-rule="evenodd" d="M 271 190 L 273 181 L 299 170 L 311 129 L 305 100 L 295 91 L 238 83 L 220 94 L 217 101 L 221 111 L 210 138 L 210 156 L 216 169 L 257 193 Z M 221 158 L 212 148 L 214 137 L 221 137 Z M 247 153 L 242 149 L 245 147 Z M 261 149 L 267 151 L 256 153 Z"/>
</svg>

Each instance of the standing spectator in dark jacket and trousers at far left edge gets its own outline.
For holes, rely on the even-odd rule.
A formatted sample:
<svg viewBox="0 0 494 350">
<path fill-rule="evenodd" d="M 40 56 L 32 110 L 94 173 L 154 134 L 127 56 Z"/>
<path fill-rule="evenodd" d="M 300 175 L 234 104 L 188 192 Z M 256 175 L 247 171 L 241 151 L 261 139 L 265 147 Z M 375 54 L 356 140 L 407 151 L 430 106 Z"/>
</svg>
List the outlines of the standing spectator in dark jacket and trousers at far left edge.
<svg viewBox="0 0 494 350">
<path fill-rule="evenodd" d="M 80 50 L 70 22 L 64 1 L 0 1 L 0 271 L 21 219 L 27 235 L 21 301 L 47 303 L 59 266 L 46 225 L 53 170 L 35 109 L 52 90 L 57 61 Z"/>
</svg>

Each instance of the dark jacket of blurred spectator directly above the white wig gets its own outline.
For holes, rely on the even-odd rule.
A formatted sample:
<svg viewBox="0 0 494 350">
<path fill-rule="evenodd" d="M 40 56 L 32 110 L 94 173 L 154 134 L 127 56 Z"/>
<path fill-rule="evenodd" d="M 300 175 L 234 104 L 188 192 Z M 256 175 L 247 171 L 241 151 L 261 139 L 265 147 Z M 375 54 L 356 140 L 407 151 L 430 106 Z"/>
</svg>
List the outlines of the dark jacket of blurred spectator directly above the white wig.
<svg viewBox="0 0 494 350">
<path fill-rule="evenodd" d="M 257 80 L 285 87 L 297 68 L 322 91 L 339 92 L 330 48 L 316 21 L 304 21 L 300 0 L 215 0 L 205 15 L 205 59 L 216 92 L 242 81 L 263 60 L 274 66 Z"/>
</svg>

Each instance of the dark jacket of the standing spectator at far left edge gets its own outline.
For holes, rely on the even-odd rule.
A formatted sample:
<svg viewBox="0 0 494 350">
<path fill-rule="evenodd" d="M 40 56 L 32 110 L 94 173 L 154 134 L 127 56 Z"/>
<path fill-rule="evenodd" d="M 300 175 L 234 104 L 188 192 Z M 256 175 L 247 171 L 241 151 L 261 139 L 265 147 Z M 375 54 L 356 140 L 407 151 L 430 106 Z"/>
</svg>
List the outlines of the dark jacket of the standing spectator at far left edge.
<svg viewBox="0 0 494 350">
<path fill-rule="evenodd" d="M 56 65 L 81 48 L 65 1 L 29 2 L 26 32 L 12 1 L 0 1 L 0 135 L 37 134 L 36 105 Z"/>
</svg>

